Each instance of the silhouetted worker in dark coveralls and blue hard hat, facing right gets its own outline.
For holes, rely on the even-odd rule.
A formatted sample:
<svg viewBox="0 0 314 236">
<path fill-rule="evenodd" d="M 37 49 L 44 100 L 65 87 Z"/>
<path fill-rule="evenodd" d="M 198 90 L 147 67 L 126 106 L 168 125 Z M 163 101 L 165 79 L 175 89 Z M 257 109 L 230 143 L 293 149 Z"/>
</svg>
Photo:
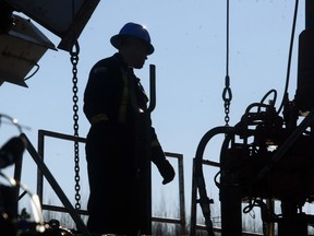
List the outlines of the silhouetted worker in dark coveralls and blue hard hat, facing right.
<svg viewBox="0 0 314 236">
<path fill-rule="evenodd" d="M 136 235 L 138 217 L 138 113 L 148 98 L 133 72 L 154 52 L 148 32 L 125 24 L 110 39 L 119 51 L 90 70 L 84 94 L 84 113 L 92 127 L 86 141 L 92 233 Z M 166 160 L 154 128 L 149 127 L 152 161 L 166 185 L 174 170 Z"/>
</svg>

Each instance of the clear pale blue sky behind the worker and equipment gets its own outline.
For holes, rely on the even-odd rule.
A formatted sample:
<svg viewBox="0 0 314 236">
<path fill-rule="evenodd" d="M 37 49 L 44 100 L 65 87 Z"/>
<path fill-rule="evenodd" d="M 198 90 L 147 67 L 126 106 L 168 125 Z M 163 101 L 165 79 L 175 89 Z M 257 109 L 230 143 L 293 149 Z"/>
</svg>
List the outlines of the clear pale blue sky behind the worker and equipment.
<svg viewBox="0 0 314 236">
<path fill-rule="evenodd" d="M 164 150 L 184 156 L 188 215 L 191 203 L 191 164 L 197 144 L 205 132 L 225 125 L 221 93 L 226 76 L 226 2 L 100 1 L 78 38 L 80 135 L 85 137 L 89 125 L 82 111 L 82 101 L 89 69 L 99 59 L 116 52 L 109 39 L 125 23 L 136 22 L 147 26 L 156 51 L 148 58 L 145 68 L 135 73 L 142 79 L 148 93 L 148 66 L 156 64 L 157 106 L 152 115 L 153 122 Z M 229 75 L 233 94 L 231 126 L 240 120 L 251 103 L 259 102 L 271 88 L 278 91 L 276 107 L 279 107 L 287 74 L 293 10 L 294 1 L 288 0 L 230 1 Z M 300 1 L 289 86 L 290 99 L 293 99 L 295 93 L 298 35 L 303 28 L 304 1 Z M 58 37 L 49 33 L 47 36 L 56 46 L 59 44 Z M 48 50 L 39 66 L 39 71 L 26 82 L 28 88 L 9 83 L 0 86 L 0 113 L 15 117 L 21 125 L 29 127 L 24 132 L 35 146 L 38 129 L 73 133 L 70 56 L 62 50 Z M 1 129 L 3 131 L 1 130 L 0 138 L 4 142 L 14 128 L 2 125 Z M 15 130 L 13 132 L 17 134 Z M 71 192 L 74 189 L 70 182 L 74 178 L 74 157 L 71 154 L 73 148 L 72 144 L 63 144 L 57 142 L 53 146 L 48 146 L 47 142 L 47 165 L 62 188 Z M 217 151 L 220 145 L 221 139 L 214 141 L 214 144 L 210 142 L 213 148 L 208 148 L 206 157 L 218 161 Z M 85 172 L 84 146 L 81 151 L 82 172 Z M 64 156 L 64 153 L 70 155 Z M 35 192 L 34 164 L 31 157 L 24 157 L 24 161 L 22 181 Z M 154 191 L 162 194 L 171 205 L 177 201 L 178 178 L 162 187 L 160 181 L 161 178 L 154 174 L 154 186 L 158 189 Z M 217 193 L 213 179 L 208 179 L 207 185 L 209 191 Z M 87 187 L 82 191 L 85 191 L 82 194 L 87 194 Z M 155 192 L 153 194 L 158 196 Z"/>
</svg>

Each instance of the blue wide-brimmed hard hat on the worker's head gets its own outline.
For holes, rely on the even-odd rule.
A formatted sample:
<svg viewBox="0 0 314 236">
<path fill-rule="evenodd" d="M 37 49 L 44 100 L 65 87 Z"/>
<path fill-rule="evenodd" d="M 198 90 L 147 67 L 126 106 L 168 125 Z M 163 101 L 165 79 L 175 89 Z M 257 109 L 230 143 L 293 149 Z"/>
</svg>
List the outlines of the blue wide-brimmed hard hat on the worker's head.
<svg viewBox="0 0 314 236">
<path fill-rule="evenodd" d="M 145 44 L 147 44 L 148 55 L 152 55 L 154 52 L 155 48 L 150 44 L 150 37 L 149 37 L 147 30 L 144 26 L 136 24 L 136 23 L 132 23 L 132 22 L 126 23 L 121 28 L 118 35 L 113 35 L 110 38 L 110 43 L 113 47 L 116 47 L 117 49 L 120 49 L 120 47 L 122 46 L 123 39 L 128 36 L 133 36 L 135 38 L 141 39 Z"/>
</svg>

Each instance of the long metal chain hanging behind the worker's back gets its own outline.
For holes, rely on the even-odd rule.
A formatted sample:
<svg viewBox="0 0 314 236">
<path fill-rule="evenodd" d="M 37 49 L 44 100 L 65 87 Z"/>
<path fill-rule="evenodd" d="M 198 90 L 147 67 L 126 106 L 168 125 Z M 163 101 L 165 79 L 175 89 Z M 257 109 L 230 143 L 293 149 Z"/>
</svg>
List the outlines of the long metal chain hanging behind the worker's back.
<svg viewBox="0 0 314 236">
<path fill-rule="evenodd" d="M 78 52 L 80 52 L 80 46 L 78 46 L 78 42 L 75 40 L 73 44 L 73 47 L 70 51 L 71 55 L 71 63 L 72 63 L 72 82 L 73 82 L 73 129 L 74 129 L 74 137 L 75 137 L 75 141 L 74 141 L 74 172 L 75 172 L 75 176 L 74 176 L 74 180 L 75 180 L 75 209 L 81 209 L 81 194 L 80 194 L 80 190 L 81 190 L 81 186 L 80 186 L 80 149 L 78 149 L 78 96 L 77 96 L 77 92 L 78 92 L 78 87 L 77 87 L 77 63 L 78 63 Z"/>
</svg>

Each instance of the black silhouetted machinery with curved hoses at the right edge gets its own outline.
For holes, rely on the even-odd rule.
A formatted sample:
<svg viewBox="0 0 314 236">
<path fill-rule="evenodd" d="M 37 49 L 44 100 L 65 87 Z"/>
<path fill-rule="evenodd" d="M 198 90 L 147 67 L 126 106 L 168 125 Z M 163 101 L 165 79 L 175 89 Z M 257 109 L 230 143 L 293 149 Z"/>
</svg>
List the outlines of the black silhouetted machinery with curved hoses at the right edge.
<svg viewBox="0 0 314 236">
<path fill-rule="evenodd" d="M 208 235 L 215 235 L 209 210 L 213 200 L 206 192 L 203 154 L 209 140 L 221 133 L 226 137 L 215 181 L 219 188 L 222 236 L 242 235 L 242 211 L 247 213 L 254 206 L 261 208 L 264 235 L 274 235 L 270 227 L 277 224 L 280 236 L 303 236 L 307 235 L 307 226 L 314 224 L 314 215 L 302 210 L 314 197 L 313 42 L 314 2 L 306 0 L 305 30 L 299 37 L 294 99 L 289 101 L 286 86 L 282 103 L 276 109 L 277 92 L 270 90 L 259 103 L 246 108 L 234 127 L 217 127 L 202 138 L 196 150 L 193 181 L 198 189 L 197 202 Z M 265 103 L 270 95 L 273 97 Z M 275 213 L 274 200 L 280 202 L 280 214 Z M 247 206 L 242 209 L 242 202 Z"/>
</svg>

